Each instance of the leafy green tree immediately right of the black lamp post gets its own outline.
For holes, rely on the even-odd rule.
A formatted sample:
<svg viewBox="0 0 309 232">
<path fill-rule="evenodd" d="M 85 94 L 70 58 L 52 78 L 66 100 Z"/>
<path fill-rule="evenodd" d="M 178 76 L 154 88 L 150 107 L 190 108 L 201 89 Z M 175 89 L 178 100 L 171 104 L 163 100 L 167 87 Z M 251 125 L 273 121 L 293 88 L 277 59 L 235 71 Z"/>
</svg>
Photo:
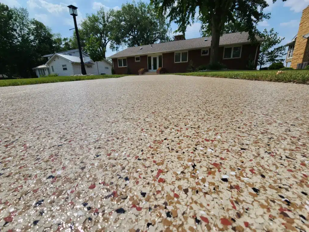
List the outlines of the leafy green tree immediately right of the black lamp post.
<svg viewBox="0 0 309 232">
<path fill-rule="evenodd" d="M 81 35 L 87 38 L 85 39 L 86 50 L 92 59 L 92 56 L 105 58 L 106 47 L 111 41 L 113 29 L 111 21 L 111 11 L 105 12 L 101 7 L 96 14 L 86 15 L 86 19 L 81 23 Z"/>
</svg>

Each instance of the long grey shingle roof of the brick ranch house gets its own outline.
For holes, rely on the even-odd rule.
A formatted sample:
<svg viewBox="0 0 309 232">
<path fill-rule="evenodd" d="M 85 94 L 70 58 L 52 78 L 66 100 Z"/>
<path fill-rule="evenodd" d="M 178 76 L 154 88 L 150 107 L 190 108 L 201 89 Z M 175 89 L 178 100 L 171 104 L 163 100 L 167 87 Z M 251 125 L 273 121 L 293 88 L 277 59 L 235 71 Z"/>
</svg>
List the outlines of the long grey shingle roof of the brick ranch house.
<svg viewBox="0 0 309 232">
<path fill-rule="evenodd" d="M 224 34 L 220 37 L 220 46 L 224 45 L 232 45 L 232 44 L 245 44 L 250 43 L 248 41 L 248 32 L 236 32 Z M 264 41 L 261 37 L 256 37 L 257 41 Z M 143 45 L 138 47 L 130 47 L 123 51 L 120 51 L 108 58 L 119 58 L 119 57 L 128 57 L 128 56 L 136 56 L 136 55 L 146 55 L 149 53 L 158 53 L 158 52 L 171 52 L 178 50 L 190 50 L 190 49 L 198 49 L 210 47 L 211 36 L 210 37 L 200 37 L 194 39 L 187 40 L 177 40 L 159 44 L 152 45 Z M 142 48 L 142 49 L 140 49 Z"/>
</svg>

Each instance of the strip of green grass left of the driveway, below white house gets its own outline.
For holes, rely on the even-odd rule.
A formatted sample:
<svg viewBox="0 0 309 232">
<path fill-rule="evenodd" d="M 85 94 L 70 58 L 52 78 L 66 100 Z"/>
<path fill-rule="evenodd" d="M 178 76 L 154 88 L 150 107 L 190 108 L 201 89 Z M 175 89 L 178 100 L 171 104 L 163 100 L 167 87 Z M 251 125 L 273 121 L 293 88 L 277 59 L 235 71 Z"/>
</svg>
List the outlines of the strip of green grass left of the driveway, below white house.
<svg viewBox="0 0 309 232">
<path fill-rule="evenodd" d="M 63 81 L 75 81 L 75 80 L 118 78 L 123 76 L 127 75 L 55 76 L 55 77 L 40 77 L 40 78 L 29 78 L 29 79 L 9 79 L 9 80 L 0 80 L 0 87 L 28 85 L 28 84 L 44 84 L 44 83 L 63 82 Z"/>
</svg>

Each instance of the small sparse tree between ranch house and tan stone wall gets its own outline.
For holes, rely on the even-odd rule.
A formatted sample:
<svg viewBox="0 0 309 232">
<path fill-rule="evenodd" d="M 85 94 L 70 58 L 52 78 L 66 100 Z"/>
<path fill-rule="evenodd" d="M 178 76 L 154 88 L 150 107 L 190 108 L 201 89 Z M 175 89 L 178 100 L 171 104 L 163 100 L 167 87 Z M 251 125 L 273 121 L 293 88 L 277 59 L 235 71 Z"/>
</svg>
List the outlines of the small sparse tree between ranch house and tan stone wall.
<svg viewBox="0 0 309 232">
<path fill-rule="evenodd" d="M 269 32 L 267 29 L 264 29 L 261 36 L 265 38 L 265 41 L 261 43 L 259 59 L 257 61 L 260 68 L 266 64 L 283 62 L 282 56 L 286 55 L 286 48 L 284 46 L 273 47 L 280 44 L 285 38 L 278 37 L 278 32 L 274 32 L 273 28 Z"/>
</svg>

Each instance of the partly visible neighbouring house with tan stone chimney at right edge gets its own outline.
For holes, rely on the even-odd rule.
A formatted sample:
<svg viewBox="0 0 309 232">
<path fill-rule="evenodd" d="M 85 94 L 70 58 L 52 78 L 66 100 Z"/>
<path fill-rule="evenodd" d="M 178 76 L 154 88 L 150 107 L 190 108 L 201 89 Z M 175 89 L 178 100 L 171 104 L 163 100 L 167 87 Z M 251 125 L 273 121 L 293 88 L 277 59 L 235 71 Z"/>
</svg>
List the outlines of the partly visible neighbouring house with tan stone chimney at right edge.
<svg viewBox="0 0 309 232">
<path fill-rule="evenodd" d="M 286 54 L 286 67 L 294 69 L 303 69 L 309 65 L 309 6 L 303 10 L 300 19 L 297 35 L 290 43 L 285 46 L 289 47 Z"/>
</svg>

